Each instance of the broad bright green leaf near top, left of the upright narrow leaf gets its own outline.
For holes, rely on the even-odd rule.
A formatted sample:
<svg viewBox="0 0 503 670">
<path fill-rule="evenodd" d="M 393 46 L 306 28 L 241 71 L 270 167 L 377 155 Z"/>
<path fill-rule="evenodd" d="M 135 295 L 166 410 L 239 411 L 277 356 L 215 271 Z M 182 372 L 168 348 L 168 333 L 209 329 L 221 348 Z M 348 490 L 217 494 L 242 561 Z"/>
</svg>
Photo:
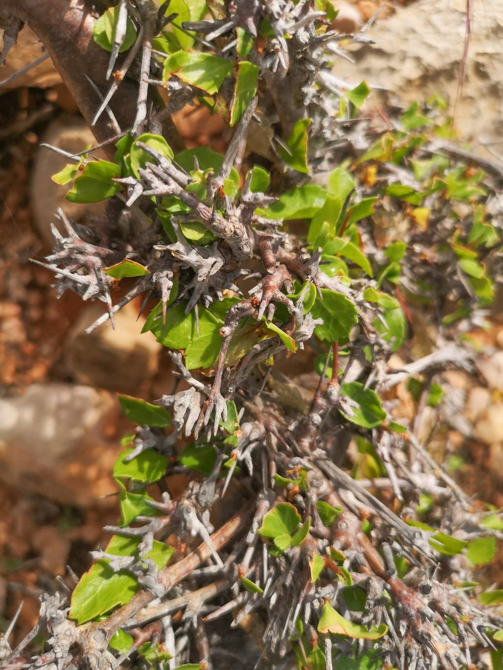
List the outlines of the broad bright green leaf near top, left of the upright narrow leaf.
<svg viewBox="0 0 503 670">
<path fill-rule="evenodd" d="M 183 82 L 213 95 L 219 90 L 233 66 L 232 60 L 218 56 L 178 51 L 164 61 L 162 79 L 166 82 L 170 74 L 176 74 Z"/>
</svg>

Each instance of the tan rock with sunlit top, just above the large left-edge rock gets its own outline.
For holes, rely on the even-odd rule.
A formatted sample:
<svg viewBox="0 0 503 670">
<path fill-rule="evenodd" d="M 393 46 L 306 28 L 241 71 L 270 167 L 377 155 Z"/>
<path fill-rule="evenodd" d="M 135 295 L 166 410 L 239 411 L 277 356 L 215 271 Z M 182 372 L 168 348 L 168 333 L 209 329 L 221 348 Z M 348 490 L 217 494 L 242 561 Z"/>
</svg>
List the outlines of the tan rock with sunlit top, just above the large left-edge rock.
<svg viewBox="0 0 503 670">
<path fill-rule="evenodd" d="M 64 352 L 64 362 L 75 381 L 137 397 L 147 395 L 144 387 L 158 371 L 162 345 L 152 333 L 142 334 L 145 321 L 136 320 L 137 309 L 128 304 L 117 312 L 115 330 L 107 321 L 87 334 L 86 328 L 106 311 L 101 302 L 87 306 L 70 330 Z"/>
</svg>

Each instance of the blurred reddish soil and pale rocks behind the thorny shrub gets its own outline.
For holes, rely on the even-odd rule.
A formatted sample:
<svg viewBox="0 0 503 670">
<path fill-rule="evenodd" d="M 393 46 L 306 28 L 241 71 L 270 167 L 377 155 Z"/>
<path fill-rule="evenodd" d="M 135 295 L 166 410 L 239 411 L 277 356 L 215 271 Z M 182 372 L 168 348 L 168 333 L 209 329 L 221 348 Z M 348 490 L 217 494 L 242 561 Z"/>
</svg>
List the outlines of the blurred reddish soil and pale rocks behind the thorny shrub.
<svg viewBox="0 0 503 670">
<path fill-rule="evenodd" d="M 382 2 L 333 4 L 340 10 L 334 27 L 351 33 Z M 460 141 L 503 160 L 503 2 L 472 0 L 461 93 L 466 4 L 384 2 L 368 34 L 375 44 L 349 46 L 353 62 L 337 59 L 334 73 L 351 86 L 365 79 L 374 89 L 364 109 L 368 115 L 385 115 L 386 105 L 400 100 L 441 94 Z M 66 188 L 50 180 L 66 159 L 40 143 L 73 153 L 94 139 L 50 60 L 9 80 L 39 56 L 40 44 L 25 27 L 0 68 L 0 631 L 24 600 L 17 639 L 36 621 L 40 592 L 54 588 L 66 565 L 80 576 L 91 563 L 89 550 L 105 540 L 103 525 L 117 520 L 111 467 L 121 451 L 120 438 L 130 429 L 117 391 L 152 400 L 171 393 L 173 385 L 162 347 L 150 333 L 139 334 L 139 305 L 119 312 L 115 332 L 103 326 L 88 336 L 85 328 L 103 306 L 84 304 L 72 293 L 56 299 L 51 273 L 30 263 L 51 249 L 56 208 L 76 222 L 89 222 L 103 207 L 67 202 Z M 225 151 L 229 131 L 217 115 L 188 107 L 174 121 L 188 147 Z M 115 300 L 127 291 L 123 283 Z M 428 328 L 414 319 L 414 338 L 426 337 Z M 469 494 L 482 492 L 486 502 L 501 507 L 503 315 L 498 302 L 490 328 L 471 336 L 481 351 L 478 375 L 445 373 L 461 404 L 434 448 L 440 457 L 449 454 L 449 470 Z M 413 415 L 406 387 L 399 385 L 396 393 L 400 415 Z M 427 409 L 432 413 L 423 413 L 422 420 L 437 421 L 433 408 Z M 172 483 L 183 485 L 183 480 Z M 501 567 L 502 557 L 496 557 L 483 568 L 485 579 L 496 581 Z"/>
</svg>

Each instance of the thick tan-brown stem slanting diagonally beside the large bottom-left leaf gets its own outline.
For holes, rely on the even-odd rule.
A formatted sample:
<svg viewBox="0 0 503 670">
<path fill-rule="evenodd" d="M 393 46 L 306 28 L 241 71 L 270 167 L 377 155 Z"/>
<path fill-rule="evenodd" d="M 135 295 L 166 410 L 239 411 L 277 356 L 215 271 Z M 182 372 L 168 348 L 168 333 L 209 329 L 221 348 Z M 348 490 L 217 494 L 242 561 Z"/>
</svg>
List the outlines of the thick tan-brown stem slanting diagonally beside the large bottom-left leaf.
<svg viewBox="0 0 503 670">
<path fill-rule="evenodd" d="M 255 511 L 255 499 L 252 498 L 247 504 L 239 510 L 229 521 L 223 524 L 218 531 L 211 535 L 211 541 L 215 549 L 225 546 L 240 530 L 245 529 L 245 522 Z M 181 580 L 188 577 L 192 570 L 196 569 L 211 557 L 211 549 L 206 543 L 202 543 L 194 549 L 188 556 L 182 558 L 178 563 L 168 565 L 159 572 L 158 578 L 160 584 L 168 591 L 172 586 L 178 584 Z M 101 628 L 105 630 L 107 639 L 124 626 L 139 610 L 146 607 L 149 602 L 154 600 L 154 596 L 146 591 L 138 591 L 131 600 L 122 606 L 117 612 L 114 612 L 107 620 L 95 622 L 89 625 L 89 628 Z"/>
</svg>

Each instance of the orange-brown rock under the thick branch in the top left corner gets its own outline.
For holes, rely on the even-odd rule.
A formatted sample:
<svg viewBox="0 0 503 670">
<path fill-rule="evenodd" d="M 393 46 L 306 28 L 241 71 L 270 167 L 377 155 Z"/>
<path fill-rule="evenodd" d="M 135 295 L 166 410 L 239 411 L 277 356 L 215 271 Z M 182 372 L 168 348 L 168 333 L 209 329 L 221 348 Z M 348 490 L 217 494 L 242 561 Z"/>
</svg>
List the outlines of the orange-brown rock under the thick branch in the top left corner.
<svg viewBox="0 0 503 670">
<path fill-rule="evenodd" d="M 7 62 L 0 68 L 0 81 L 3 81 L 11 74 L 17 72 L 26 65 L 34 62 L 43 55 L 41 44 L 34 32 L 27 25 L 23 27 L 17 37 L 17 44 L 11 48 L 7 54 Z M 3 34 L 0 39 L 0 50 L 3 49 Z M 19 75 L 15 79 L 0 85 L 1 90 L 9 88 L 18 88 L 19 86 L 34 86 L 36 88 L 48 88 L 54 84 L 60 84 L 61 77 L 52 64 L 52 60 L 47 58 L 44 62 Z"/>
</svg>

